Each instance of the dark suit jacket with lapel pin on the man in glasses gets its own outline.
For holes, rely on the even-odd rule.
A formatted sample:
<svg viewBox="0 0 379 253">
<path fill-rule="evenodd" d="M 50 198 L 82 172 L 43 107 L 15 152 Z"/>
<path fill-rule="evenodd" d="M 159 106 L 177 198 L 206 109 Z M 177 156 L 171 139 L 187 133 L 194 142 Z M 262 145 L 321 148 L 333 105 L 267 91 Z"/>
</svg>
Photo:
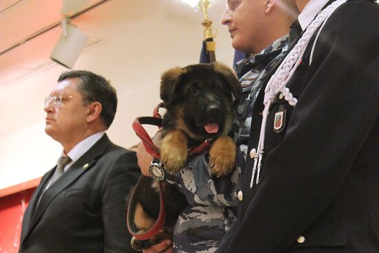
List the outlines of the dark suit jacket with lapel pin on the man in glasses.
<svg viewBox="0 0 379 253">
<path fill-rule="evenodd" d="M 43 192 L 54 170 L 43 176 L 25 211 L 19 253 L 134 252 L 126 196 L 140 176 L 135 152 L 104 134 Z"/>
</svg>

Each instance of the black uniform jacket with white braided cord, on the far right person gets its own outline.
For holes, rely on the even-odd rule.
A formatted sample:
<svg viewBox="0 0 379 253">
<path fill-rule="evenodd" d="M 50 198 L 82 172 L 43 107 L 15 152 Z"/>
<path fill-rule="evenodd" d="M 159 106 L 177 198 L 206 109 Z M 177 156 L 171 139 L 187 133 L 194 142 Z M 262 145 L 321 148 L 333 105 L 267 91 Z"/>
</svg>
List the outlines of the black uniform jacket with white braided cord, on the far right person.
<svg viewBox="0 0 379 253">
<path fill-rule="evenodd" d="M 218 252 L 379 252 L 378 27 L 377 4 L 344 3 L 309 65 L 316 31 L 287 84 L 298 103 L 277 97 L 270 108 L 260 183 L 249 187 L 248 157 L 237 225 Z M 262 101 L 260 94 L 249 150 L 258 144 Z M 277 133 L 280 105 L 287 115 Z"/>
</svg>

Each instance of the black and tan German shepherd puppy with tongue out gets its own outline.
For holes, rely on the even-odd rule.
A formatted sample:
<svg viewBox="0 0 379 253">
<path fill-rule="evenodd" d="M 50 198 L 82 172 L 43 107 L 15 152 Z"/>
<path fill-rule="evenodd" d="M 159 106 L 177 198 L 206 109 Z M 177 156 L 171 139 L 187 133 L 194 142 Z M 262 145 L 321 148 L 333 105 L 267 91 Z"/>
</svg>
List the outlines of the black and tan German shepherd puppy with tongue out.
<svg viewBox="0 0 379 253">
<path fill-rule="evenodd" d="M 174 174 L 184 167 L 188 149 L 206 139 L 212 139 L 209 168 L 214 176 L 232 172 L 236 161 L 236 144 L 227 133 L 232 129 L 233 97 L 240 98 L 242 88 L 236 75 L 222 63 L 188 65 L 171 68 L 161 77 L 163 140 L 160 144 L 161 162 L 166 172 Z M 166 208 L 163 231 L 154 238 L 141 241 L 133 237 L 132 247 L 143 250 L 165 239 L 172 232 L 179 213 L 185 206 L 185 196 L 172 185 L 164 183 Z M 145 189 L 136 208 L 134 223 L 139 230 L 148 230 L 159 212 L 156 185 Z"/>
</svg>

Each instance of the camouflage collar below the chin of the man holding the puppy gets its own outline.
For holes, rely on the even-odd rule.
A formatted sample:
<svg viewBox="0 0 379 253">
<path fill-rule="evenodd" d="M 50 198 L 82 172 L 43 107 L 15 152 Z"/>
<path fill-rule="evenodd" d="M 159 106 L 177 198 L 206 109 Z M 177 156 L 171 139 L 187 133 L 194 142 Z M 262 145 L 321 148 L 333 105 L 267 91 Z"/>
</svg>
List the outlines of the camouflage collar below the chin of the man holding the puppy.
<svg viewBox="0 0 379 253">
<path fill-rule="evenodd" d="M 254 65 L 259 65 L 260 62 L 267 59 L 268 57 L 271 57 L 273 54 L 276 55 L 276 52 L 278 50 L 282 50 L 285 52 L 287 50 L 287 43 L 288 43 L 288 34 L 285 34 L 283 37 L 280 37 L 274 43 L 269 45 L 264 50 L 260 51 L 258 54 L 254 54 L 252 57 L 248 57 L 246 59 L 238 61 L 236 63 L 236 72 L 238 73 L 238 76 L 240 76 L 241 73 L 243 73 L 243 70 L 245 69 L 245 66 L 249 66 L 249 70 L 254 67 Z"/>
</svg>

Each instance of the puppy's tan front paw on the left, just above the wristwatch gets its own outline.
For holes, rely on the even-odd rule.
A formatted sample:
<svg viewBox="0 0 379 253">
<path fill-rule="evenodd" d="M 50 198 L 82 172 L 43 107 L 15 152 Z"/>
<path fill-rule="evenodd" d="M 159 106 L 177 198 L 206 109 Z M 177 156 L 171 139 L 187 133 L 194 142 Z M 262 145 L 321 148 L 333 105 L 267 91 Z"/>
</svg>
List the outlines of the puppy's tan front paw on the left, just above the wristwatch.
<svg viewBox="0 0 379 253">
<path fill-rule="evenodd" d="M 161 144 L 161 161 L 168 172 L 181 170 L 187 153 L 187 136 L 182 130 L 172 130 L 165 135 Z"/>
</svg>

